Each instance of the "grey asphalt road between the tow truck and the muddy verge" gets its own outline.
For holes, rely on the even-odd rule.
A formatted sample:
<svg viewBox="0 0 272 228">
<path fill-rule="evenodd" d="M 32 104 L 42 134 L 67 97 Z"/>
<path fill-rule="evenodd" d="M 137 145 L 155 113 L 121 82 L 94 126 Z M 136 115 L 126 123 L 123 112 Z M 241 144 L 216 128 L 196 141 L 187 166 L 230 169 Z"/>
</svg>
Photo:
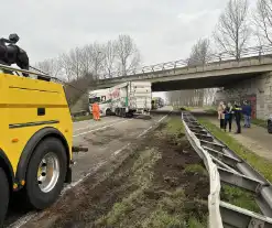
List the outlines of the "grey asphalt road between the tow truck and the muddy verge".
<svg viewBox="0 0 272 228">
<path fill-rule="evenodd" d="M 163 108 L 163 115 L 152 115 L 151 119 L 105 117 L 98 122 L 94 120 L 75 122 L 74 144 L 87 146 L 88 152 L 74 153 L 73 182 L 65 186 L 64 191 L 76 187 L 78 183 L 96 172 L 110 158 L 117 156 L 122 149 L 129 146 L 135 138 L 143 135 L 154 124 L 162 121 L 166 117 L 166 110 L 171 111 L 172 108 Z M 6 227 L 19 228 L 36 215 L 35 211 L 18 211 L 11 208 Z"/>
</svg>

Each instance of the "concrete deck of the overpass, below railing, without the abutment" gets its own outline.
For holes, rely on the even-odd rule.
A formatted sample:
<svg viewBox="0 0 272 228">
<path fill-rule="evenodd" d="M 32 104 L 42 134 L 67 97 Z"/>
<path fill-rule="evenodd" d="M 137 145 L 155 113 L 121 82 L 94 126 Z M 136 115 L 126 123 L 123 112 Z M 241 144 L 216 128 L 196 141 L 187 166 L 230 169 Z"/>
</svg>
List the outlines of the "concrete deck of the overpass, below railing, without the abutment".
<svg viewBox="0 0 272 228">
<path fill-rule="evenodd" d="M 101 79 L 98 88 L 128 80 L 148 80 L 153 91 L 226 87 L 272 72 L 272 55 L 214 62 L 202 66 L 183 66 Z"/>
</svg>

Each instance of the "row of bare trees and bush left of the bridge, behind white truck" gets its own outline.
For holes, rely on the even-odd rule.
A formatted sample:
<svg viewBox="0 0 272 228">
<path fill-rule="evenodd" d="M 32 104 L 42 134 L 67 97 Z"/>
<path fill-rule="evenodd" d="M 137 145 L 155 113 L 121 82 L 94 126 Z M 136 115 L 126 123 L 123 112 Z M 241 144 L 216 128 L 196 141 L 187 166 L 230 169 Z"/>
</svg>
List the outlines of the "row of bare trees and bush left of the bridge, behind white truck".
<svg viewBox="0 0 272 228">
<path fill-rule="evenodd" d="M 58 57 L 45 59 L 35 67 L 64 82 L 69 105 L 74 105 L 98 79 L 121 75 L 140 65 L 140 52 L 130 35 L 121 34 L 106 43 L 72 48 Z M 69 86 L 70 85 L 70 86 Z"/>
</svg>

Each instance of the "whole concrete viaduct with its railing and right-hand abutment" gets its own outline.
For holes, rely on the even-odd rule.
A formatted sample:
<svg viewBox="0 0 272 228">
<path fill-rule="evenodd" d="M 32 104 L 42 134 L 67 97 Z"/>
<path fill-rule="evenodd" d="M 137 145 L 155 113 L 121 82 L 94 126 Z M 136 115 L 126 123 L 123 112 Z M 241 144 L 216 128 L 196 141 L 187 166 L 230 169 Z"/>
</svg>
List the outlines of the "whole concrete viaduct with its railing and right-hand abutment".
<svg viewBox="0 0 272 228">
<path fill-rule="evenodd" d="M 100 79 L 97 88 L 128 80 L 151 82 L 153 91 L 222 87 L 218 99 L 250 100 L 255 117 L 263 119 L 272 113 L 271 72 L 272 46 L 258 46 L 243 50 L 239 59 L 220 53 L 211 55 L 205 64 L 185 59 L 131 69 L 127 76 L 115 73 Z"/>
</svg>

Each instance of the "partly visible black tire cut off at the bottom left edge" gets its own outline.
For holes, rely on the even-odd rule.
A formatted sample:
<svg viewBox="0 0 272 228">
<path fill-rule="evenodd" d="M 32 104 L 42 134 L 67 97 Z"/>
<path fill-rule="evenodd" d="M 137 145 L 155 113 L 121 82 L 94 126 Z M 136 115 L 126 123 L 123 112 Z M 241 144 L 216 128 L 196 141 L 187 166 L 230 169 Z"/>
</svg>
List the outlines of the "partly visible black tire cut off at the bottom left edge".
<svg viewBox="0 0 272 228">
<path fill-rule="evenodd" d="M 9 182 L 4 171 L 0 167 L 0 227 L 3 227 L 10 198 Z"/>
</svg>

